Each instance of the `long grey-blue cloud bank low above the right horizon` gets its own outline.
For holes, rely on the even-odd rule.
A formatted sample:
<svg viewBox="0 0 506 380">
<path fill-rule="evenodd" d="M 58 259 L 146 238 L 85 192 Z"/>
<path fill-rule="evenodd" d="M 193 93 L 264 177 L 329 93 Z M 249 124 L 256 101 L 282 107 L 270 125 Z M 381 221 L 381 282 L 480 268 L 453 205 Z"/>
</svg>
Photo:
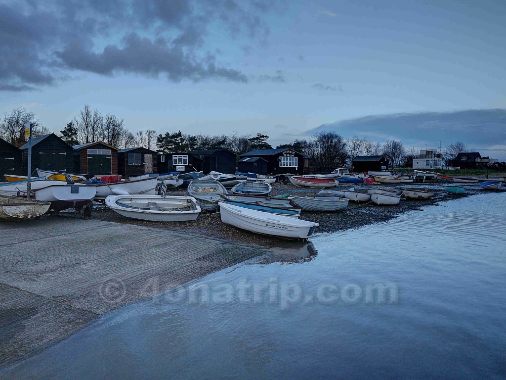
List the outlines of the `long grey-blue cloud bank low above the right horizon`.
<svg viewBox="0 0 506 380">
<path fill-rule="evenodd" d="M 406 145 L 433 147 L 463 141 L 469 147 L 506 145 L 506 109 L 469 109 L 455 112 L 375 115 L 323 124 L 309 133 L 335 131 L 384 141 L 397 138 Z"/>
</svg>

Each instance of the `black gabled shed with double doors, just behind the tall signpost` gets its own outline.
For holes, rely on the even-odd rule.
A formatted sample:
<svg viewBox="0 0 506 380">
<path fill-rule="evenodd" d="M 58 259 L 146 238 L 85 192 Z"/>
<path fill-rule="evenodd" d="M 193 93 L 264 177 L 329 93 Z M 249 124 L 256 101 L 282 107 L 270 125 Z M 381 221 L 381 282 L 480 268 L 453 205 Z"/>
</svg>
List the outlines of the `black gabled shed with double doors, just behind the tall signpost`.
<svg viewBox="0 0 506 380">
<path fill-rule="evenodd" d="M 20 147 L 23 160 L 23 172 L 28 170 L 28 143 Z M 53 170 L 66 173 L 74 172 L 72 146 L 54 133 L 32 139 L 32 172 L 36 169 Z M 26 175 L 26 174 L 25 174 Z"/>
</svg>

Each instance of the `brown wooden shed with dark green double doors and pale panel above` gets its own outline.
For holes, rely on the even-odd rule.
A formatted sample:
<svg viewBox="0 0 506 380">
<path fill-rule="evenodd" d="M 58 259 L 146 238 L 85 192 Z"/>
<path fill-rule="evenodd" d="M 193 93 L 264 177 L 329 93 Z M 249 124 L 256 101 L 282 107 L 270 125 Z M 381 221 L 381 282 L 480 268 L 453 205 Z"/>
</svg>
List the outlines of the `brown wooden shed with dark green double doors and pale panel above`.
<svg viewBox="0 0 506 380">
<path fill-rule="evenodd" d="M 80 174 L 118 174 L 118 148 L 103 141 L 74 145 L 74 170 Z"/>
</svg>

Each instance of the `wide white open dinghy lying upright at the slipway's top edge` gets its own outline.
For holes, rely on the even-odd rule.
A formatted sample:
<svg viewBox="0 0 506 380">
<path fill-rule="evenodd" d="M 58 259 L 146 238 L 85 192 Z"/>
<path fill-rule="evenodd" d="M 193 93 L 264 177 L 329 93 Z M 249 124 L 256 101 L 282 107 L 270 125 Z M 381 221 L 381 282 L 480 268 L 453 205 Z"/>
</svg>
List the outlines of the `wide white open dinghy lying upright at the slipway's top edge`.
<svg viewBox="0 0 506 380">
<path fill-rule="evenodd" d="M 195 220 L 201 211 L 193 197 L 112 195 L 105 204 L 127 218 L 160 222 Z"/>
</svg>

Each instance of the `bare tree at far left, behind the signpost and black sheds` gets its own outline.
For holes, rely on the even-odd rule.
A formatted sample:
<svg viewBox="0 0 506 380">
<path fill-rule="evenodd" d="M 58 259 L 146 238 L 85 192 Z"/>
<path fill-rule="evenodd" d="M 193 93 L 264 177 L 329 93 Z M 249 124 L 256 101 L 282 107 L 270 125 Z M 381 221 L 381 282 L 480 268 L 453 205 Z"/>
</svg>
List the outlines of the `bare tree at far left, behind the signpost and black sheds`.
<svg viewBox="0 0 506 380">
<path fill-rule="evenodd" d="M 35 118 L 34 112 L 27 112 L 25 108 L 14 108 L 5 112 L 0 121 L 0 137 L 13 145 L 21 146 L 25 143 L 25 124 L 30 123 L 32 137 L 39 137 L 49 133 Z"/>
</svg>

